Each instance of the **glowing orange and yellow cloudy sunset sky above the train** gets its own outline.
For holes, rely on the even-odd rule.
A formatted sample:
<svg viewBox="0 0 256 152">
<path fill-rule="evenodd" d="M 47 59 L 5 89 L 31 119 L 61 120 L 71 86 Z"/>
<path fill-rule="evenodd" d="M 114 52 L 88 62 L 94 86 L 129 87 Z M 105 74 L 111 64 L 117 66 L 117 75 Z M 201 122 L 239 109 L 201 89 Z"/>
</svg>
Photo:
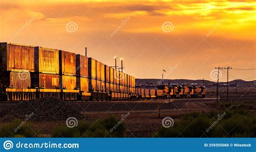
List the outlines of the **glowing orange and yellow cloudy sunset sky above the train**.
<svg viewBox="0 0 256 152">
<path fill-rule="evenodd" d="M 0 41 L 63 49 L 136 78 L 209 79 L 256 68 L 254 1 L 1 1 Z M 166 25 L 166 26 L 165 26 Z M 120 60 L 118 60 L 120 65 Z M 256 70 L 231 70 L 253 80 Z M 222 71 L 221 81 L 226 81 Z"/>
</svg>

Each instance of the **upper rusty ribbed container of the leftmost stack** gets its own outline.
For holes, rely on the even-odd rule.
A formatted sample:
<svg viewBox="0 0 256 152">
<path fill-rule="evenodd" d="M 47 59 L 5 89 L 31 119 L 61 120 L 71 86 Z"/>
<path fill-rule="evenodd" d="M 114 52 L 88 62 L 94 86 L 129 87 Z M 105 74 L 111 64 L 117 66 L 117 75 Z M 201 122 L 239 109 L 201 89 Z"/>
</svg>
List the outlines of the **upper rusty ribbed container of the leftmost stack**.
<svg viewBox="0 0 256 152">
<path fill-rule="evenodd" d="M 0 72 L 21 71 L 33 72 L 34 67 L 34 47 L 26 45 L 0 43 Z"/>
</svg>

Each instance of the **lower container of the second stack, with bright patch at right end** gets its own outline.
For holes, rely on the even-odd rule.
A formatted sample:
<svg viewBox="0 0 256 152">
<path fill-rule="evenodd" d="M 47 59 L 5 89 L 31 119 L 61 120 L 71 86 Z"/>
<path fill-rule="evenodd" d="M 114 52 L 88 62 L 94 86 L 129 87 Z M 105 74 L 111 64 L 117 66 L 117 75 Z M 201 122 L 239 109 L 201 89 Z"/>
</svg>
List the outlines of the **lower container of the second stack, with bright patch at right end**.
<svg viewBox="0 0 256 152">
<path fill-rule="evenodd" d="M 32 88 L 57 89 L 59 88 L 59 75 L 31 73 L 31 86 Z"/>
</svg>

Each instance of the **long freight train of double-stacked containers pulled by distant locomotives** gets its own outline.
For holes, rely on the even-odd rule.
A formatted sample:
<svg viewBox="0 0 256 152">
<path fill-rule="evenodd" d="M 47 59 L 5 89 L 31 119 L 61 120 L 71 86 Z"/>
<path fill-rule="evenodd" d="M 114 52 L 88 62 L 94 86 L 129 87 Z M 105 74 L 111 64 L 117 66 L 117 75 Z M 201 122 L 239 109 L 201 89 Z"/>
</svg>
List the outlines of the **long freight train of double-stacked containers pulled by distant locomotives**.
<svg viewBox="0 0 256 152">
<path fill-rule="evenodd" d="M 0 43 L 0 100 L 187 98 L 183 89 L 187 90 L 178 86 L 136 88 L 135 77 L 91 57 L 59 49 Z M 190 92 L 190 97 L 205 95 L 201 88 L 192 90 L 196 93 Z"/>
</svg>

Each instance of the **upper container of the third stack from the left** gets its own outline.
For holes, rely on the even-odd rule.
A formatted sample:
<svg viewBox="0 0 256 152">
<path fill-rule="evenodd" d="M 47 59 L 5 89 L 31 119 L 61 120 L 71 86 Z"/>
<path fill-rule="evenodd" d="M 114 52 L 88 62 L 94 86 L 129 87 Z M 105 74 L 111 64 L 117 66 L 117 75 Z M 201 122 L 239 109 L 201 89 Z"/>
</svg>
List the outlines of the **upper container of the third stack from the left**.
<svg viewBox="0 0 256 152">
<path fill-rule="evenodd" d="M 59 73 L 68 76 L 76 75 L 76 54 L 59 50 Z"/>
</svg>

